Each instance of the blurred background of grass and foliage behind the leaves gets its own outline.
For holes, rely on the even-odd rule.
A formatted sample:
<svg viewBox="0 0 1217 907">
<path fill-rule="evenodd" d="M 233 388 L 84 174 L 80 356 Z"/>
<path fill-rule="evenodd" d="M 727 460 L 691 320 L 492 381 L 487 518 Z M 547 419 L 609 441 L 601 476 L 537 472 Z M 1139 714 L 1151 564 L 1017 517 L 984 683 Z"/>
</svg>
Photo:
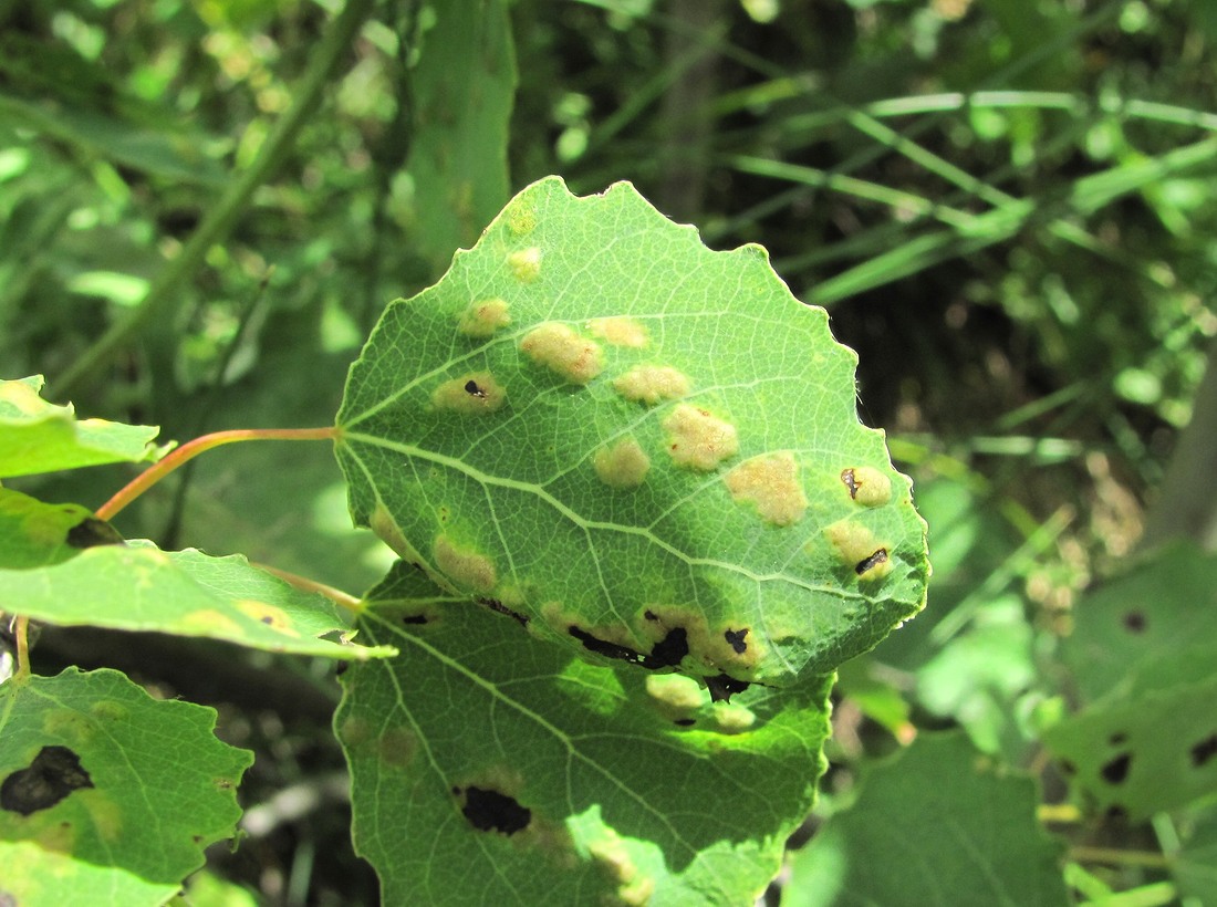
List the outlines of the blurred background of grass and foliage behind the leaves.
<svg viewBox="0 0 1217 907">
<path fill-rule="evenodd" d="M 1039 776 L 1075 897 L 1212 900 L 1215 763 L 1182 791 L 1129 767 L 1155 710 L 1211 701 L 1212 632 L 1188 609 L 1211 608 L 1212 561 L 1172 554 L 1198 589 L 1166 606 L 1195 649 L 1173 673 L 1179 637 L 1104 623 L 1123 600 L 1082 594 L 1146 522 L 1206 541 L 1155 502 L 1177 499 L 1163 478 L 1211 499 L 1171 459 L 1206 405 L 1217 334 L 1211 5 L 467 9 L 453 37 L 422 2 L 0 5 L 4 377 L 45 373 L 56 402 L 162 438 L 324 425 L 385 302 L 438 276 L 511 190 L 548 173 L 578 194 L 629 179 L 714 248 L 763 243 L 796 296 L 830 307 L 860 355 L 863 418 L 888 430 L 930 524 L 930 606 L 842 672 L 824 795 L 792 846 L 835 813 L 840 830 L 813 838 L 772 897 L 824 890 L 824 841 L 849 839 L 854 801 L 877 808 L 873 760 L 958 727 Z M 458 71 L 478 78 L 436 82 Z M 442 231 L 437 209 L 456 214 Z M 129 474 L 12 487 L 96 506 Z M 387 561 L 348 525 L 331 453 L 304 444 L 213 454 L 118 521 L 360 590 Z M 1180 576 L 1167 570 L 1149 588 Z M 1104 633 L 1139 646 L 1117 662 L 1135 666 L 1123 687 L 1089 679 L 1078 655 Z M 242 786 L 249 839 L 214 870 L 286 903 L 375 901 L 327 733 L 331 667 L 174 646 L 47 631 L 35 667 L 120 667 L 219 707 L 221 737 L 264 757 Z M 1195 761 L 1187 748 L 1217 733 L 1196 724 L 1183 755 L 1150 756 Z M 1067 757 L 1079 734 L 1088 761 Z M 1125 778 L 1104 774 L 1125 756 L 1131 807 Z M 1066 766 L 1089 799 L 1066 790 Z"/>
</svg>

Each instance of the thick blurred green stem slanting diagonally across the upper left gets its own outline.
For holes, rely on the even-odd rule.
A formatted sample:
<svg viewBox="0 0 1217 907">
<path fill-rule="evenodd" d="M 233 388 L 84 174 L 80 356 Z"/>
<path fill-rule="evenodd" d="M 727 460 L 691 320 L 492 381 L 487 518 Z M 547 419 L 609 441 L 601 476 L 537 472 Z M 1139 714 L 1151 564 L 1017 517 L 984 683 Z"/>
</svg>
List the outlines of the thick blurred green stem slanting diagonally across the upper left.
<svg viewBox="0 0 1217 907">
<path fill-rule="evenodd" d="M 147 296 L 129 314 L 110 326 L 67 371 L 55 382 L 60 398 L 71 397 L 86 379 L 101 368 L 118 348 L 142 329 L 162 308 L 178 295 L 181 285 L 203 263 L 207 252 L 217 242 L 223 242 L 241 214 L 249 205 L 254 190 L 265 183 L 280 162 L 287 156 L 296 134 L 304 123 L 316 116 L 321 90 L 354 35 L 359 32 L 372 9 L 372 0 L 347 0 L 342 12 L 333 19 L 329 32 L 310 50 L 309 67 L 292 93 L 292 103 L 275 123 L 270 135 L 258 151 L 248 169 L 235 175 L 228 191 L 220 196 L 198 228 L 183 246 L 178 256 L 166 263 L 156 275 Z"/>
</svg>

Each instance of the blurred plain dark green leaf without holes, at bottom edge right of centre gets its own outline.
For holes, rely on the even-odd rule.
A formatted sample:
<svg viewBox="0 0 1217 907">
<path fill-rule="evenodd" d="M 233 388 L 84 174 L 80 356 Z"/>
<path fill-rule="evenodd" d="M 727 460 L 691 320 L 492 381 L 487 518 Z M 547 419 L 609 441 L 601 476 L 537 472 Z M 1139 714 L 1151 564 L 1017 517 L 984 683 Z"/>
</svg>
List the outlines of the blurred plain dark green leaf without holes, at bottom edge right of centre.
<svg viewBox="0 0 1217 907">
<path fill-rule="evenodd" d="M 964 734 L 922 735 L 796 853 L 783 907 L 1069 903 L 1037 805 Z"/>
</svg>

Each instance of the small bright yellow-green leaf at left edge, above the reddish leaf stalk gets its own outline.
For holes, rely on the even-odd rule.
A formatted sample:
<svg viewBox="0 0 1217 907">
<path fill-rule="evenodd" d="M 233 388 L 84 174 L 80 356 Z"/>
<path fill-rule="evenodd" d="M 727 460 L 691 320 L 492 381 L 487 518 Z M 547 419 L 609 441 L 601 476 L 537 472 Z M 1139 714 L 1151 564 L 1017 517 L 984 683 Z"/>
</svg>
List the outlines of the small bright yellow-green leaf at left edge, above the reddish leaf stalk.
<svg viewBox="0 0 1217 907">
<path fill-rule="evenodd" d="M 0 381 L 0 478 L 159 457 L 159 429 L 79 420 L 71 405 L 41 399 L 41 375 Z"/>
</svg>

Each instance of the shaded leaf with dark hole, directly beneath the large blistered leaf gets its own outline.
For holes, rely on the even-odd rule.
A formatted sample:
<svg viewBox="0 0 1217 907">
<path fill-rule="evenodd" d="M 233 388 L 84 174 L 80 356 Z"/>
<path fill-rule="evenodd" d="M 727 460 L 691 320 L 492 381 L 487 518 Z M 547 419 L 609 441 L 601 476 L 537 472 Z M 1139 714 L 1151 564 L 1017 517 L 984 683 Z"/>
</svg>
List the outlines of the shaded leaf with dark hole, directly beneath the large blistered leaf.
<svg viewBox="0 0 1217 907">
<path fill-rule="evenodd" d="M 831 677 L 711 704 L 436 593 L 399 565 L 369 597 L 402 654 L 347 671 L 335 716 L 385 903 L 752 902 L 811 806 Z"/>
</svg>

